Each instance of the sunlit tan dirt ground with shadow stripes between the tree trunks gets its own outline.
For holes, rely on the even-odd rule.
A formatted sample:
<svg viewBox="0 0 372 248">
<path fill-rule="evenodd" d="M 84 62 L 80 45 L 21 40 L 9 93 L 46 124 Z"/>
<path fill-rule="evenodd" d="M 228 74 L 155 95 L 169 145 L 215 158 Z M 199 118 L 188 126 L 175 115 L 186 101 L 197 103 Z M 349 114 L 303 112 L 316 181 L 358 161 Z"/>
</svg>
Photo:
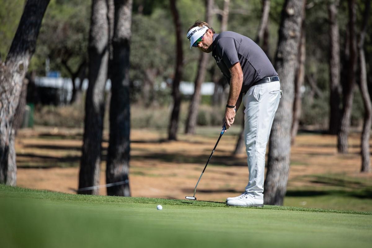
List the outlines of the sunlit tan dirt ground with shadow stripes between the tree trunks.
<svg viewBox="0 0 372 248">
<path fill-rule="evenodd" d="M 184 199 L 192 196 L 195 184 L 217 141 L 216 135 L 179 135 L 179 141 L 166 141 L 166 133 L 132 129 L 130 187 L 135 197 Z M 81 129 L 35 127 L 21 129 L 16 138 L 17 186 L 76 193 L 82 145 Z M 248 180 L 246 154 L 232 157 L 236 135 L 224 135 L 199 183 L 198 200 L 224 201 L 240 194 Z M 108 134 L 104 134 L 105 157 Z M 349 139 L 349 154 L 337 154 L 336 136 L 304 133 L 291 149 L 288 189 L 315 187 L 313 175 L 341 174 L 372 179 L 361 174 L 360 138 Z M 372 145 L 372 144 L 371 144 Z M 100 184 L 105 184 L 102 161 Z M 106 189 L 100 189 L 106 194 Z"/>
</svg>

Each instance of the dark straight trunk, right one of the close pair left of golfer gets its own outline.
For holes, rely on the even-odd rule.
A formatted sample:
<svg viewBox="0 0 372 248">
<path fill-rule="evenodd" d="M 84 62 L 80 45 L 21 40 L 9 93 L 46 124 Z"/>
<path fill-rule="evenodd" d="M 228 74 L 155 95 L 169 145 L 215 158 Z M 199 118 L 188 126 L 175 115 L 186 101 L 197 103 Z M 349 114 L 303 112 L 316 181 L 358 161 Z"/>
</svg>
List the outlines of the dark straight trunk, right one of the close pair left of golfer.
<svg viewBox="0 0 372 248">
<path fill-rule="evenodd" d="M 107 154 L 106 183 L 109 196 L 131 196 L 129 189 L 130 102 L 129 44 L 131 39 L 132 0 L 115 0 L 115 25 L 112 40 L 110 140 Z"/>
</svg>

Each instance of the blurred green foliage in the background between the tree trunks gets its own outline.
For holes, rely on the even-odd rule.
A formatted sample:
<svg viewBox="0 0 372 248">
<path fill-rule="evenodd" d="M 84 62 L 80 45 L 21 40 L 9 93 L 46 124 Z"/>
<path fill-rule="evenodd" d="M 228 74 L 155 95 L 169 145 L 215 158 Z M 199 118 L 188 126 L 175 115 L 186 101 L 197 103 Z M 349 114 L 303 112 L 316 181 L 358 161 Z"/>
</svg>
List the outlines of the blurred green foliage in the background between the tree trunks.
<svg viewBox="0 0 372 248">
<path fill-rule="evenodd" d="M 308 0 L 306 9 L 306 62 L 305 84 L 302 94 L 302 115 L 300 125 L 313 125 L 326 129 L 329 116 L 329 23 L 327 4 L 330 0 Z M 284 0 L 272 0 L 269 16 L 269 58 L 275 57 L 278 42 L 278 28 Z M 4 60 L 9 50 L 25 0 L 0 0 L 0 56 Z M 215 0 L 215 8 L 222 9 L 224 1 Z M 357 0 L 357 30 L 362 21 L 365 8 L 363 0 Z M 203 1 L 179 0 L 177 7 L 180 12 L 185 64 L 182 81 L 195 80 L 198 66 L 199 51 L 189 49 L 186 39 L 187 29 L 195 20 L 205 19 L 205 4 Z M 60 71 L 62 77 L 71 77 L 71 71 L 77 71 L 81 63 L 87 60 L 89 39 L 91 1 L 51 0 L 45 13 L 40 30 L 35 55 L 29 67 L 30 73 L 38 76 L 45 75 L 45 61 L 50 60 L 50 70 Z M 260 23 L 261 0 L 232 0 L 230 1 L 228 30 L 241 33 L 252 39 L 257 35 Z M 341 1 L 338 13 L 340 29 L 341 54 L 345 48 L 347 37 L 347 1 Z M 221 28 L 221 15 L 213 15 L 211 26 L 218 33 Z M 365 40 L 365 54 L 369 90 L 372 81 L 372 19 Z M 134 0 L 132 14 L 131 38 L 131 70 L 132 87 L 132 119 L 135 126 L 143 125 L 166 128 L 171 104 L 171 78 L 174 73 L 176 40 L 173 19 L 167 0 Z M 344 62 L 341 56 L 341 63 Z M 273 61 L 272 61 L 273 62 Z M 215 66 L 212 59 L 208 67 Z M 211 71 L 208 69 L 208 71 Z M 219 73 L 219 70 L 217 70 Z M 314 83 L 311 84 L 310 80 Z M 205 81 L 212 81 L 211 73 L 207 73 Z M 342 81 L 342 79 L 341 79 Z M 316 88 L 314 88 L 314 85 Z M 285 93 L 284 93 L 285 94 Z M 371 94 L 371 92 L 370 92 Z M 203 96 L 199 109 L 198 125 L 219 125 L 222 116 L 221 106 L 211 106 L 210 96 Z M 184 97 L 181 119 L 186 119 L 188 97 Z M 66 121 L 50 121 L 53 118 L 63 119 L 56 107 L 39 106 L 41 111 L 36 124 L 82 126 L 83 104 L 76 103 L 75 107 L 64 106 L 71 112 L 71 123 Z M 80 105 L 79 105 L 80 104 Z M 223 105 L 223 103 L 221 103 Z M 63 108 L 63 107 L 61 107 Z M 67 110 L 66 110 L 67 111 Z M 136 114 L 136 112 L 141 114 Z M 50 117 L 52 115 L 52 118 Z M 153 116 L 151 116 L 153 115 Z M 47 117 L 49 116 L 49 117 Z M 137 117 L 136 117 L 137 116 Z M 75 119 L 76 120 L 72 120 Z M 240 118 L 240 117 L 239 117 Z M 145 120 L 144 120 L 145 119 Z M 363 103 L 358 87 L 355 87 L 355 97 L 352 111 L 352 125 L 359 126 L 363 119 Z M 49 121 L 48 121 L 49 120 Z M 162 120 L 162 121 L 161 121 Z M 159 123 L 160 122 L 160 123 Z M 140 124 L 143 123 L 143 124 Z"/>
</svg>

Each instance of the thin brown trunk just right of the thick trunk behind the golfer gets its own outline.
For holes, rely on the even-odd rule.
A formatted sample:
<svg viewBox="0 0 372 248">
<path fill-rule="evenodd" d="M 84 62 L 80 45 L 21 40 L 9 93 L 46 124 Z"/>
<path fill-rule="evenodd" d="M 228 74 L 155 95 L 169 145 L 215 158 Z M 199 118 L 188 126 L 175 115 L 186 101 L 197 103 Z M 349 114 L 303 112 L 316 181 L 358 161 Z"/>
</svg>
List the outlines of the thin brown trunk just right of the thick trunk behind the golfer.
<svg viewBox="0 0 372 248">
<path fill-rule="evenodd" d="M 291 130 L 291 144 L 294 144 L 295 138 L 298 132 L 299 126 L 299 119 L 301 117 L 301 87 L 304 84 L 305 80 L 305 59 L 306 59 L 306 29 L 305 29 L 305 5 L 306 0 L 304 2 L 304 9 L 303 9 L 303 20 L 301 25 L 301 36 L 300 42 L 298 46 L 298 66 L 296 70 L 295 76 L 295 95 L 293 101 L 293 120 L 292 120 L 292 130 Z"/>
</svg>

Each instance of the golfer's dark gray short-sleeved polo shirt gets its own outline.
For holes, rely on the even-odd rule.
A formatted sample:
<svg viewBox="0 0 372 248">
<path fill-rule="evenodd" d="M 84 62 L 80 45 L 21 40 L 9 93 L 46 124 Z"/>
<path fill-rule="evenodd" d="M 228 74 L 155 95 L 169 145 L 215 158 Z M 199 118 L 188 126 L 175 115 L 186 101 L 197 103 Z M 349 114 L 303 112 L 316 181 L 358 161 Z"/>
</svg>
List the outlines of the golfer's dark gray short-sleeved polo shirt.
<svg viewBox="0 0 372 248">
<path fill-rule="evenodd" d="M 229 69 L 240 62 L 243 71 L 242 92 L 246 92 L 262 78 L 278 76 L 260 46 L 250 38 L 235 32 L 226 31 L 213 35 L 212 56 L 229 84 Z"/>
</svg>

